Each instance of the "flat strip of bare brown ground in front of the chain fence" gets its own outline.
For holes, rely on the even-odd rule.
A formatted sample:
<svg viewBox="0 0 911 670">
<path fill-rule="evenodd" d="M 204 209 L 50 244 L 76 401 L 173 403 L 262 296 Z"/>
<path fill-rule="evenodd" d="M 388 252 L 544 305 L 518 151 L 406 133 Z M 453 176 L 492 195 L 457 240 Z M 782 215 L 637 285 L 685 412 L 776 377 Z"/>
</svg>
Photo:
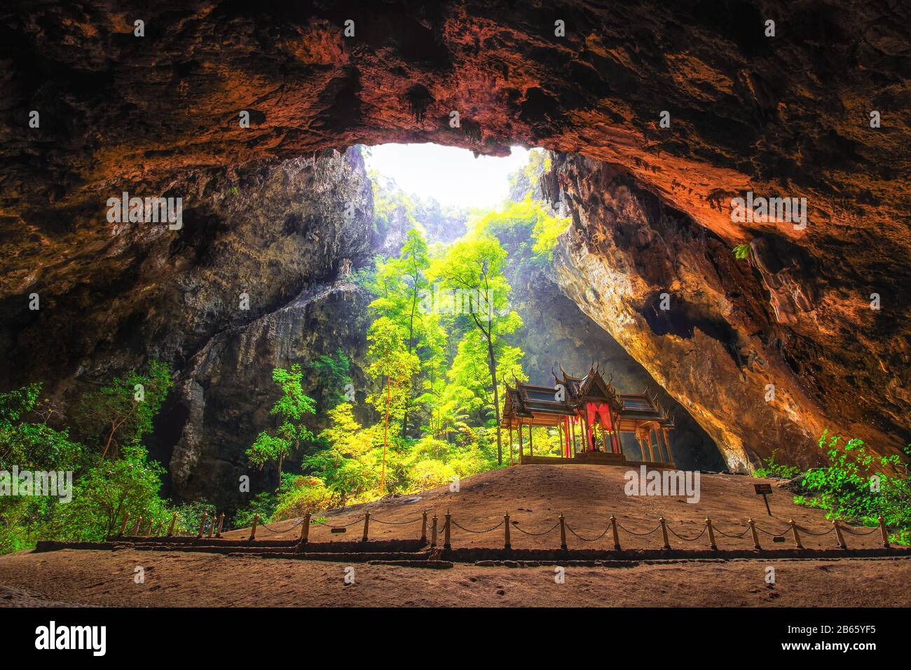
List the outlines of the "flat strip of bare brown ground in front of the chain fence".
<svg viewBox="0 0 911 670">
<path fill-rule="evenodd" d="M 0 605 L 252 606 L 907 606 L 911 560 L 675 562 L 634 567 L 449 570 L 262 560 L 202 553 L 55 551 L 0 560 Z M 134 582 L 137 566 L 146 581 Z M 15 585 L 15 586 L 13 586 Z"/>
</svg>

